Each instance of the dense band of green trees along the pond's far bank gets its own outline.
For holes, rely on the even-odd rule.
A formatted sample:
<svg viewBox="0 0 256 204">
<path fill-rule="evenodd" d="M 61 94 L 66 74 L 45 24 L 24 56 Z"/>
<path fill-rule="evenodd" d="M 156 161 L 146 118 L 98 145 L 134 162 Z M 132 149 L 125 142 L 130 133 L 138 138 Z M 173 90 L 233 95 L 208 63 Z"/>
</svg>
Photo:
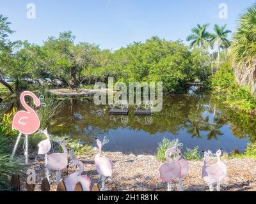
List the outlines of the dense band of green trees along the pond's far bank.
<svg viewBox="0 0 256 204">
<path fill-rule="evenodd" d="M 181 41 L 153 36 L 145 43 L 134 42 L 111 52 L 95 44 L 76 44 L 76 36 L 68 31 L 58 38 L 50 36 L 42 46 L 28 41 L 7 43 L 8 34 L 12 34 L 7 20 L 1 16 L 1 33 L 6 34 L 0 50 L 0 83 L 10 92 L 38 89 L 43 84 L 79 89 L 108 82 L 108 77 L 125 83 L 163 82 L 164 91 L 180 92 L 188 82 L 208 80 L 211 73 L 208 53 L 191 51 Z"/>
</svg>

